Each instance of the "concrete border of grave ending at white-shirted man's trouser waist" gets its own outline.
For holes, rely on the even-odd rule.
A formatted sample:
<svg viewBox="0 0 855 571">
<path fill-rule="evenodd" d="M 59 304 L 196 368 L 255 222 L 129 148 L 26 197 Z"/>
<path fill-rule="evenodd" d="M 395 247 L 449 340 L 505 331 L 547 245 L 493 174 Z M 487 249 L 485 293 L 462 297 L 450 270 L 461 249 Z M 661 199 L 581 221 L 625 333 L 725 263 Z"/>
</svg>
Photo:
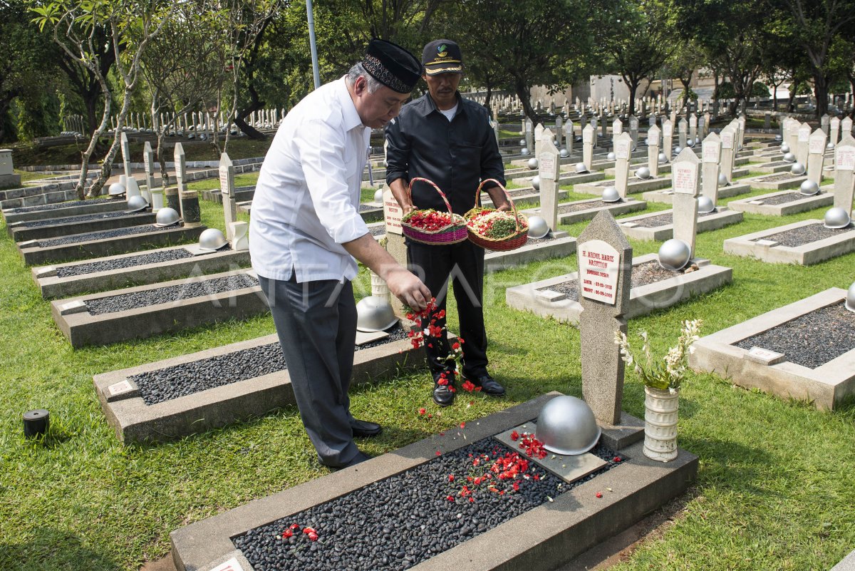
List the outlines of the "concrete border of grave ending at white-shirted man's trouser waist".
<svg viewBox="0 0 855 571">
<path fill-rule="evenodd" d="M 161 333 L 174 333 L 188 327 L 198 327 L 231 319 L 245 319 L 253 315 L 267 313 L 268 305 L 262 294 L 261 286 L 244 287 L 239 290 L 182 299 L 178 302 L 156 303 L 142 308 L 99 315 L 91 315 L 85 306 L 87 299 L 111 297 L 168 286 L 184 286 L 192 282 L 214 280 L 238 274 L 248 274 L 255 277 L 252 270 L 238 270 L 68 297 L 50 302 L 50 314 L 53 316 L 56 327 L 59 327 L 62 335 L 76 349 L 85 345 L 104 345 L 131 339 L 148 338 Z"/>
</svg>

